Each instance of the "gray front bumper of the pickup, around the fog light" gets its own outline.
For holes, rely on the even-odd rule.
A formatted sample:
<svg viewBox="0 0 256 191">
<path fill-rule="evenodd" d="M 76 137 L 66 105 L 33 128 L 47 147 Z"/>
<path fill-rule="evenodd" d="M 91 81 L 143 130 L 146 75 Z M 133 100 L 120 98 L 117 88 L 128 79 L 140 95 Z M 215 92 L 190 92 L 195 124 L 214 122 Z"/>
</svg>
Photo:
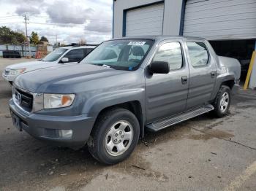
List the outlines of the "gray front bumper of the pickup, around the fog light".
<svg viewBox="0 0 256 191">
<path fill-rule="evenodd" d="M 74 117 L 48 116 L 23 112 L 10 100 L 10 111 L 20 119 L 20 127 L 36 139 L 48 141 L 63 147 L 79 148 L 89 139 L 95 118 L 86 114 Z M 55 130 L 72 130 L 72 137 L 64 139 L 57 136 Z M 49 133 L 50 132 L 50 133 Z"/>
</svg>

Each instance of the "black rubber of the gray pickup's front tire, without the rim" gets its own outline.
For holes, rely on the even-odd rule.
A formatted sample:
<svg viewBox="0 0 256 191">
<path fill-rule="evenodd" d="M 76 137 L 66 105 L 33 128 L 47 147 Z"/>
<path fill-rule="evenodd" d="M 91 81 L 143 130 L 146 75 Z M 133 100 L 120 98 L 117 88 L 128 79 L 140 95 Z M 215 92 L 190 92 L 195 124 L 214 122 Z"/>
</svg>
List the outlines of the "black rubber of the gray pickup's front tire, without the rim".
<svg viewBox="0 0 256 191">
<path fill-rule="evenodd" d="M 112 156 L 109 155 L 107 150 L 105 149 L 105 136 L 107 135 L 108 131 L 110 130 L 110 127 L 114 125 L 116 122 L 124 120 L 129 122 L 132 125 L 133 128 L 133 139 L 132 144 L 129 146 L 129 149 L 127 149 L 126 152 L 124 152 L 122 155 L 119 156 Z M 122 160 L 126 159 L 131 155 L 132 151 L 135 149 L 136 145 L 138 144 L 138 139 L 140 135 L 140 125 L 138 122 L 138 119 L 135 117 L 132 112 L 129 112 L 125 109 L 119 109 L 118 111 L 114 112 L 113 115 L 108 117 L 108 120 L 106 120 L 103 124 L 100 125 L 99 131 L 97 135 L 97 156 L 100 161 L 106 164 L 115 164 L 119 163 Z"/>
</svg>

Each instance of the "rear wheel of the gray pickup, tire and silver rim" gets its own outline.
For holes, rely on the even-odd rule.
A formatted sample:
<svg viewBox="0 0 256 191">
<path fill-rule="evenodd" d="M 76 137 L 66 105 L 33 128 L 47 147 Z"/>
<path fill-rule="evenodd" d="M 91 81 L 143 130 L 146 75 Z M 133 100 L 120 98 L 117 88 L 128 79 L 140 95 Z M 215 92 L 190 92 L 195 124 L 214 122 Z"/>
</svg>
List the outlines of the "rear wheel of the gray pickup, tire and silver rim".
<svg viewBox="0 0 256 191">
<path fill-rule="evenodd" d="M 222 85 L 219 88 L 217 96 L 214 101 L 214 114 L 217 117 L 224 117 L 230 109 L 231 93 L 230 87 Z"/>
</svg>

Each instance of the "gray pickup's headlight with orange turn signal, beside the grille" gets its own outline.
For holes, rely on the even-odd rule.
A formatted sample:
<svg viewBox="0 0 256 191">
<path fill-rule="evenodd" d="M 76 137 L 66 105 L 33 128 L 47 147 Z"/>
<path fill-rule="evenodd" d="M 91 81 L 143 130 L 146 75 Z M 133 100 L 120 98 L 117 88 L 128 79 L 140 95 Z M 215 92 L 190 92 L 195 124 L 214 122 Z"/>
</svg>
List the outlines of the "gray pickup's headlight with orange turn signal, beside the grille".
<svg viewBox="0 0 256 191">
<path fill-rule="evenodd" d="M 74 99 L 75 94 L 44 93 L 44 109 L 70 106 L 73 103 Z"/>
</svg>

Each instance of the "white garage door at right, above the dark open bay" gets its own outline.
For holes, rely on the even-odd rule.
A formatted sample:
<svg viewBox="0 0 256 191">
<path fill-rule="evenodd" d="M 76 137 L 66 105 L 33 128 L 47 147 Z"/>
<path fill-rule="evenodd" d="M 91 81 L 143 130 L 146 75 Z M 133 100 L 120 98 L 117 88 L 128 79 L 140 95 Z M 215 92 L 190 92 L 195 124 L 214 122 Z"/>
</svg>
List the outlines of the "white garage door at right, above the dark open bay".
<svg viewBox="0 0 256 191">
<path fill-rule="evenodd" d="M 184 36 L 256 38 L 256 0 L 188 0 Z"/>
</svg>

